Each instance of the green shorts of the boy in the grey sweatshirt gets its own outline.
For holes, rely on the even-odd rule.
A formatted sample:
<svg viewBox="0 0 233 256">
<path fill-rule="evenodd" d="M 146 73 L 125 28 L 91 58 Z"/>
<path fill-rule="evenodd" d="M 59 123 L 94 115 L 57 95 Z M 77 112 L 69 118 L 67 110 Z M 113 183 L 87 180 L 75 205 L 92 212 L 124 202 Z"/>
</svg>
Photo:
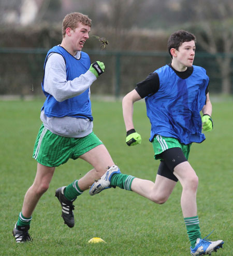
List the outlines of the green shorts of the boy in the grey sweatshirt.
<svg viewBox="0 0 233 256">
<path fill-rule="evenodd" d="M 91 132 L 82 138 L 67 138 L 56 135 L 41 125 L 33 151 L 33 158 L 39 164 L 56 167 L 65 164 L 69 158 L 77 159 L 94 147 L 103 144 Z"/>
</svg>

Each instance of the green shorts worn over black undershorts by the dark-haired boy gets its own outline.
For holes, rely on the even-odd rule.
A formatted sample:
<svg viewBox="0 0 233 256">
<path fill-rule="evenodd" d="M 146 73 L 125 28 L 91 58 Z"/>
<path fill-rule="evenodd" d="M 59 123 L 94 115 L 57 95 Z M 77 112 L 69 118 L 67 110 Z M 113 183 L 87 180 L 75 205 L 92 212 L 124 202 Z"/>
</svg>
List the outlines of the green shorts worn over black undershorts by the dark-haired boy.
<svg viewBox="0 0 233 256">
<path fill-rule="evenodd" d="M 172 147 L 180 147 L 186 159 L 188 159 L 188 155 L 190 154 L 191 144 L 184 145 L 176 138 L 164 137 L 157 134 L 154 137 L 152 144 L 155 159 L 163 160 L 161 153 L 163 153 L 165 150 L 171 149 Z"/>
</svg>

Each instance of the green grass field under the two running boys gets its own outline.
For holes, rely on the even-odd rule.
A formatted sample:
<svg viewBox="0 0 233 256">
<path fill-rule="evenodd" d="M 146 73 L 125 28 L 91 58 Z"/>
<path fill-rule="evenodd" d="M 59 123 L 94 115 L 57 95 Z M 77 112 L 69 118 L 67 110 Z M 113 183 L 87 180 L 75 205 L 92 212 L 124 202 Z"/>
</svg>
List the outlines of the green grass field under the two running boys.
<svg viewBox="0 0 233 256">
<path fill-rule="evenodd" d="M 120 188 L 93 197 L 85 192 L 75 201 L 75 227 L 64 225 L 54 192 L 91 169 L 82 160 L 69 160 L 56 169 L 48 192 L 33 214 L 30 229 L 33 243 L 16 244 L 11 232 L 24 194 L 35 177 L 32 151 L 41 124 L 42 102 L 0 102 L 0 255 L 189 255 L 190 243 L 180 207 L 180 183 L 164 205 Z M 154 180 L 159 163 L 153 160 L 148 140 L 150 123 L 145 105 L 135 104 L 135 126 L 142 136 L 142 144 L 135 147 L 125 144 L 121 102 L 93 101 L 92 109 L 94 132 L 121 171 Z M 199 177 L 197 202 L 202 237 L 215 228 L 209 238 L 225 241 L 224 249 L 216 254 L 219 256 L 232 255 L 233 247 L 232 110 L 233 101 L 213 102 L 214 130 L 206 134 L 206 141 L 192 146 L 190 155 L 190 163 Z M 106 244 L 88 244 L 92 237 L 101 237 Z"/>
</svg>

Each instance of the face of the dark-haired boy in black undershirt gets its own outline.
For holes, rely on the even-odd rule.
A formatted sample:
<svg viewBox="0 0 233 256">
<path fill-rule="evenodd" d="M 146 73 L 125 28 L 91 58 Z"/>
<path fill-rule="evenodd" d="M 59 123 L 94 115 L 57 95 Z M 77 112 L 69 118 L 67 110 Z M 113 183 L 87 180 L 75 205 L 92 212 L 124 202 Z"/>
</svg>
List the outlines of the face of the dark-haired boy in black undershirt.
<svg viewBox="0 0 233 256">
<path fill-rule="evenodd" d="M 194 41 L 182 43 L 179 50 L 176 50 L 177 61 L 183 66 L 192 66 L 195 56 L 195 49 L 196 46 Z"/>
</svg>

